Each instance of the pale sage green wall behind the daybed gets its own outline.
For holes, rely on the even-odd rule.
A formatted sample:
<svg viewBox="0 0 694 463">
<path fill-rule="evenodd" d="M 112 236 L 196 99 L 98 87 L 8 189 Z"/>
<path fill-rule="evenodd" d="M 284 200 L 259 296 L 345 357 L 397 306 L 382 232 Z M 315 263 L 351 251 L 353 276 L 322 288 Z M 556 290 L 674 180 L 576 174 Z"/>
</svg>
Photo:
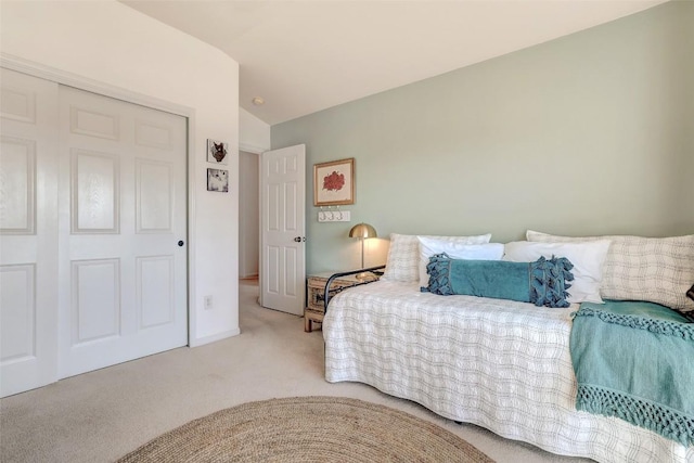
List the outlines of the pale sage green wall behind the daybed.
<svg viewBox="0 0 694 463">
<path fill-rule="evenodd" d="M 668 2 L 271 128 L 314 163 L 356 158 L 350 223 L 318 223 L 308 272 L 389 233 L 694 233 L 694 3 Z M 371 262 L 376 263 L 376 262 Z"/>
</svg>

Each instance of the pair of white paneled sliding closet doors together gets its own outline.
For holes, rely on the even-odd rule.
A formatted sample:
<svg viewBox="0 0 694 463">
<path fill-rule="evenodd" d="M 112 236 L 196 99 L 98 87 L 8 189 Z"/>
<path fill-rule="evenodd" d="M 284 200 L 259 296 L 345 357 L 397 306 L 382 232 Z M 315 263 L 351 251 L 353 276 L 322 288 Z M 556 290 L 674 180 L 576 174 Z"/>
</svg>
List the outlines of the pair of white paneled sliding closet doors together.
<svg viewBox="0 0 694 463">
<path fill-rule="evenodd" d="M 0 396 L 187 345 L 187 119 L 0 70 Z"/>
</svg>

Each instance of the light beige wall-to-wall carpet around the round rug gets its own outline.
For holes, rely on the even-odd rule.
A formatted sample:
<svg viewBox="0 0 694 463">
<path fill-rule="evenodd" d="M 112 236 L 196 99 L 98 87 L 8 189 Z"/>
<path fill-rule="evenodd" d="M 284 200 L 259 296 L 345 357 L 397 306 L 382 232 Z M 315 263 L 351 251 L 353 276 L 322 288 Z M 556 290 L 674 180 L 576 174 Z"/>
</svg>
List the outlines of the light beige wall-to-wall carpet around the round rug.
<svg viewBox="0 0 694 463">
<path fill-rule="evenodd" d="M 458 425 L 357 383 L 323 376 L 322 332 L 259 307 L 240 286 L 241 335 L 123 363 L 0 400 L 0 461 L 112 462 L 192 420 L 249 401 L 349 397 L 404 411 L 471 442 L 498 462 L 584 462 Z"/>
</svg>

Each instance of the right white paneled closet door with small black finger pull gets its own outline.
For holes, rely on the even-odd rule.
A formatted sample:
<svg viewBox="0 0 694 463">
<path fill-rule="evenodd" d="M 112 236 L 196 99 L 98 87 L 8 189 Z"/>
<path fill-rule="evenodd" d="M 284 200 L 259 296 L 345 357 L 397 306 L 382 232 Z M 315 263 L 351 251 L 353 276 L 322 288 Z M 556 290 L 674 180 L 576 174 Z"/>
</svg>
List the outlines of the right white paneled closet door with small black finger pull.
<svg viewBox="0 0 694 463">
<path fill-rule="evenodd" d="M 188 344 L 187 120 L 60 88 L 61 377 Z"/>
</svg>

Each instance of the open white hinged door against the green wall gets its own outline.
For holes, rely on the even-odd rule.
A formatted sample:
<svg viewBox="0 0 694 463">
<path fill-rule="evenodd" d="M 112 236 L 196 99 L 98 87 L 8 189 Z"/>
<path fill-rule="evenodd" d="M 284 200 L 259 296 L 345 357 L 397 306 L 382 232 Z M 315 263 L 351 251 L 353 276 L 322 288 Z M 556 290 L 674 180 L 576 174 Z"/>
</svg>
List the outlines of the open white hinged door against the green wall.
<svg viewBox="0 0 694 463">
<path fill-rule="evenodd" d="M 260 157 L 260 304 L 300 316 L 306 297 L 306 145 Z"/>
</svg>

